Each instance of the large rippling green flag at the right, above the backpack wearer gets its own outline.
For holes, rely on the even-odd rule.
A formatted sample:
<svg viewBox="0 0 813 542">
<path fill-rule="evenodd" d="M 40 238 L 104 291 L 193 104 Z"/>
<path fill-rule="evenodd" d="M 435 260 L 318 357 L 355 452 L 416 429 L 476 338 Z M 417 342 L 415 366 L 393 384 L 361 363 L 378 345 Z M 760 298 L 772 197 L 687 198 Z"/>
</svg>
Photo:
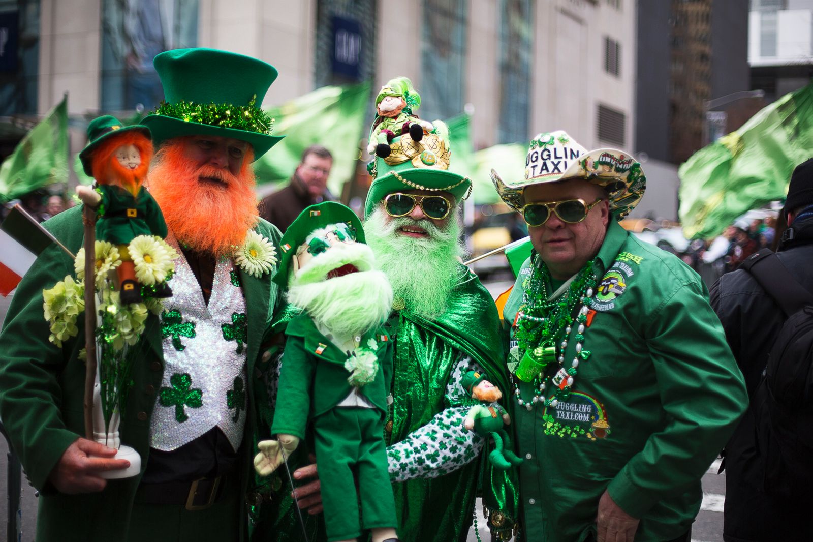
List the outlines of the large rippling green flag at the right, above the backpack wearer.
<svg viewBox="0 0 813 542">
<path fill-rule="evenodd" d="M 785 94 L 680 166 L 688 238 L 720 234 L 737 216 L 784 199 L 793 168 L 813 155 L 813 85 Z"/>
</svg>

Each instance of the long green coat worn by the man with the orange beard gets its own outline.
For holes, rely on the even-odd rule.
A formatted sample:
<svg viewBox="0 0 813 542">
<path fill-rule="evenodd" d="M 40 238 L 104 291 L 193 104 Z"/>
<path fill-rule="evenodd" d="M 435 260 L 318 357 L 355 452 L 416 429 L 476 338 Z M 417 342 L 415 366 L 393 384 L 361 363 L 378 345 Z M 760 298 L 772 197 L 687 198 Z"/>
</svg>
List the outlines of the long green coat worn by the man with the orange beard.
<svg viewBox="0 0 813 542">
<path fill-rule="evenodd" d="M 82 246 L 81 208 L 73 208 L 45 223 L 69 250 Z M 279 230 L 266 221 L 256 229 L 278 246 Z M 51 245 L 34 262 L 17 287 L 0 333 L 0 418 L 34 487 L 40 490 L 37 540 L 111 540 L 126 538 L 129 510 L 140 477 L 111 480 L 104 491 L 64 495 L 48 483 L 50 471 L 65 449 L 85 434 L 82 402 L 85 364 L 77 359 L 85 346 L 84 319 L 77 321 L 77 338 L 63 347 L 48 341 L 48 324 L 42 313 L 42 290 L 65 275 L 73 274 L 73 260 Z M 280 291 L 271 276 L 254 278 L 240 271 L 246 295 L 248 374 L 260 354 L 268 322 L 280 307 Z M 163 375 L 163 350 L 159 318 L 150 315 L 144 337 L 136 345 L 141 363 L 133 365 L 131 388 L 120 436 L 141 455 L 141 469 L 150 454 L 150 416 Z M 260 362 L 257 363 L 259 365 Z M 249 404 L 254 404 L 254 379 L 249 378 Z M 251 469 L 256 414 L 248 409 L 241 447 L 246 474 Z M 245 486 L 247 476 L 243 476 Z"/>
</svg>

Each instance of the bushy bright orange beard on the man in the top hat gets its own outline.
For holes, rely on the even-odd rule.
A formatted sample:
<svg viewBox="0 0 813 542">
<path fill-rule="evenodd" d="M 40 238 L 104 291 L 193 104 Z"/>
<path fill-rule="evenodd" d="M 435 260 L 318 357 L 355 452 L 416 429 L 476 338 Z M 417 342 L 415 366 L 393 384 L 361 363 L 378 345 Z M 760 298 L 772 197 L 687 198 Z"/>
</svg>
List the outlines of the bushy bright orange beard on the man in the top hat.
<svg viewBox="0 0 813 542">
<path fill-rule="evenodd" d="M 228 256 L 258 220 L 251 151 L 235 176 L 225 168 L 194 164 L 185 156 L 184 146 L 185 140 L 179 138 L 159 149 L 148 177 L 150 194 L 179 243 Z M 226 187 L 199 181 L 201 176 L 218 178 Z"/>
</svg>

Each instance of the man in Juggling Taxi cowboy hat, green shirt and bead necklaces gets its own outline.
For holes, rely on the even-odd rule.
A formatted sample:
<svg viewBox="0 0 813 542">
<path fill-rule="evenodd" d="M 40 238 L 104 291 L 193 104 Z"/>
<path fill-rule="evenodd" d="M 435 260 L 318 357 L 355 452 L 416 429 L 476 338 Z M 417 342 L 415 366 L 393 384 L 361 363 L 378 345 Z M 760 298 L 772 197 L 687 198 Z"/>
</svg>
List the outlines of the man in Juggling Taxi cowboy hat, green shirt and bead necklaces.
<svg viewBox="0 0 813 542">
<path fill-rule="evenodd" d="M 689 540 L 700 479 L 746 407 L 706 286 L 618 224 L 641 165 L 541 133 L 493 181 L 533 244 L 504 311 L 527 540 Z"/>
</svg>

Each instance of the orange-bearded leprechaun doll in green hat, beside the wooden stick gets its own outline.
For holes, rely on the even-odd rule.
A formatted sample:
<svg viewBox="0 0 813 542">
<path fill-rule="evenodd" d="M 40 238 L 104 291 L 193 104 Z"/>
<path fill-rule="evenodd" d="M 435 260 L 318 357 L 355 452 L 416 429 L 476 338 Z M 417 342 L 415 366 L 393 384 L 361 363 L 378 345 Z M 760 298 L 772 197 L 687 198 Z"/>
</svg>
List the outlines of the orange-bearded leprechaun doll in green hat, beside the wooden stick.
<svg viewBox="0 0 813 542">
<path fill-rule="evenodd" d="M 154 286 L 152 297 L 170 297 L 172 290 L 166 279 L 174 269 L 171 258 L 163 255 L 167 256 L 163 258 L 167 262 L 163 269 L 159 262 L 152 261 L 161 255 L 150 255 L 163 250 L 163 243 L 155 243 L 153 236 L 162 239 L 167 236 L 161 209 L 142 186 L 153 155 L 150 129 L 142 125 L 123 126 L 114 116 L 105 115 L 90 122 L 88 139 L 79 156 L 85 173 L 96 182 L 93 187 L 77 186 L 76 195 L 85 205 L 96 209 L 97 240 L 107 241 L 119 251 L 121 264 L 116 273 L 121 302 L 141 302 L 144 284 Z M 137 241 L 139 247 L 144 245 L 146 249 L 130 250 L 130 243 L 139 236 L 146 236 Z M 137 253 L 138 262 L 133 261 L 133 252 Z M 139 273 L 141 269 L 144 271 Z"/>
</svg>

